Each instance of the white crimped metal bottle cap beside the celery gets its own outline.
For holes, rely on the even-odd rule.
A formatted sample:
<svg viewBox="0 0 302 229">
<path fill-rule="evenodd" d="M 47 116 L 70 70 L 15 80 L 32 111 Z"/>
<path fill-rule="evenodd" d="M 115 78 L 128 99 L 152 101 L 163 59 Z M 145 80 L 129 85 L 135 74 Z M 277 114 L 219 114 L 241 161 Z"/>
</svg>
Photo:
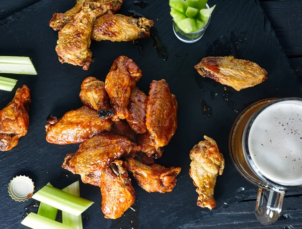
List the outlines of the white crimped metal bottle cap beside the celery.
<svg viewBox="0 0 302 229">
<path fill-rule="evenodd" d="M 33 181 L 27 176 L 17 176 L 9 184 L 10 196 L 16 201 L 28 200 L 34 193 Z"/>
</svg>

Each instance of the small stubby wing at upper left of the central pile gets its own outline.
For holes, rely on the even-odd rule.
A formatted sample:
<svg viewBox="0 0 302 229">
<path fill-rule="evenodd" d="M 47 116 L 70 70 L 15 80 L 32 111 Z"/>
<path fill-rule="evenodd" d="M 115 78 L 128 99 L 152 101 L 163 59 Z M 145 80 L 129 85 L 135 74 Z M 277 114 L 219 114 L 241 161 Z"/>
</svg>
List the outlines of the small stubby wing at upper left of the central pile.
<svg viewBox="0 0 302 229">
<path fill-rule="evenodd" d="M 84 105 L 95 110 L 110 109 L 105 83 L 95 77 L 87 77 L 81 85 L 80 98 Z"/>
</svg>

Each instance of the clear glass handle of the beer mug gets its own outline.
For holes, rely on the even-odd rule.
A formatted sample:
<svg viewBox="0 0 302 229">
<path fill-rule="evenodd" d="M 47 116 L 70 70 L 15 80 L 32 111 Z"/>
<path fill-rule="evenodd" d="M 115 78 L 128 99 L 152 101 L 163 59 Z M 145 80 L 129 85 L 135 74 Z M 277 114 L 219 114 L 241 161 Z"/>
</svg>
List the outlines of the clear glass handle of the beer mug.
<svg viewBox="0 0 302 229">
<path fill-rule="evenodd" d="M 255 213 L 263 225 L 269 225 L 279 218 L 284 194 L 284 190 L 259 187 Z"/>
</svg>

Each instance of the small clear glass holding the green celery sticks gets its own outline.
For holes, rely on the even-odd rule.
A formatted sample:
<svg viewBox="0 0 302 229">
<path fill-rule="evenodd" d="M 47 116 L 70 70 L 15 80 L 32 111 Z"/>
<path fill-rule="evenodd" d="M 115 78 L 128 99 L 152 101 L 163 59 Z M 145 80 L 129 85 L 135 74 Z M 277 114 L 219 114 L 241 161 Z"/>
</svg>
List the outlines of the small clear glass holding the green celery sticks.
<svg viewBox="0 0 302 229">
<path fill-rule="evenodd" d="M 209 9 L 210 7 L 206 4 L 206 8 Z M 195 31 L 195 32 L 191 32 L 191 33 L 185 33 L 183 32 L 177 25 L 176 23 L 173 21 L 173 31 L 175 36 L 181 40 L 182 42 L 185 43 L 194 43 L 196 41 L 199 41 L 200 38 L 202 38 L 203 34 L 205 33 L 206 28 L 209 26 L 211 21 L 211 16 L 207 22 L 207 24 L 205 25 L 205 27 L 203 27 L 201 30 Z"/>
</svg>

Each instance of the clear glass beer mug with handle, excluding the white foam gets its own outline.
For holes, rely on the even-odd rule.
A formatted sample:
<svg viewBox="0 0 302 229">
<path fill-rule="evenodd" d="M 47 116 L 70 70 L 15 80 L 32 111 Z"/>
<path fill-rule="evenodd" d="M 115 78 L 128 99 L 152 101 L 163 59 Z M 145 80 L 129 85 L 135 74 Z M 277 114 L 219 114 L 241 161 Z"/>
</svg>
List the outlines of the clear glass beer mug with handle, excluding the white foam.
<svg viewBox="0 0 302 229">
<path fill-rule="evenodd" d="M 268 225 L 278 219 L 286 190 L 302 186 L 300 183 L 285 185 L 274 182 L 259 171 L 250 155 L 249 131 L 255 119 L 265 108 L 287 100 L 302 101 L 300 98 L 270 98 L 251 104 L 236 119 L 229 138 L 230 156 L 236 169 L 249 182 L 259 186 L 255 213 L 263 225 Z"/>
</svg>

